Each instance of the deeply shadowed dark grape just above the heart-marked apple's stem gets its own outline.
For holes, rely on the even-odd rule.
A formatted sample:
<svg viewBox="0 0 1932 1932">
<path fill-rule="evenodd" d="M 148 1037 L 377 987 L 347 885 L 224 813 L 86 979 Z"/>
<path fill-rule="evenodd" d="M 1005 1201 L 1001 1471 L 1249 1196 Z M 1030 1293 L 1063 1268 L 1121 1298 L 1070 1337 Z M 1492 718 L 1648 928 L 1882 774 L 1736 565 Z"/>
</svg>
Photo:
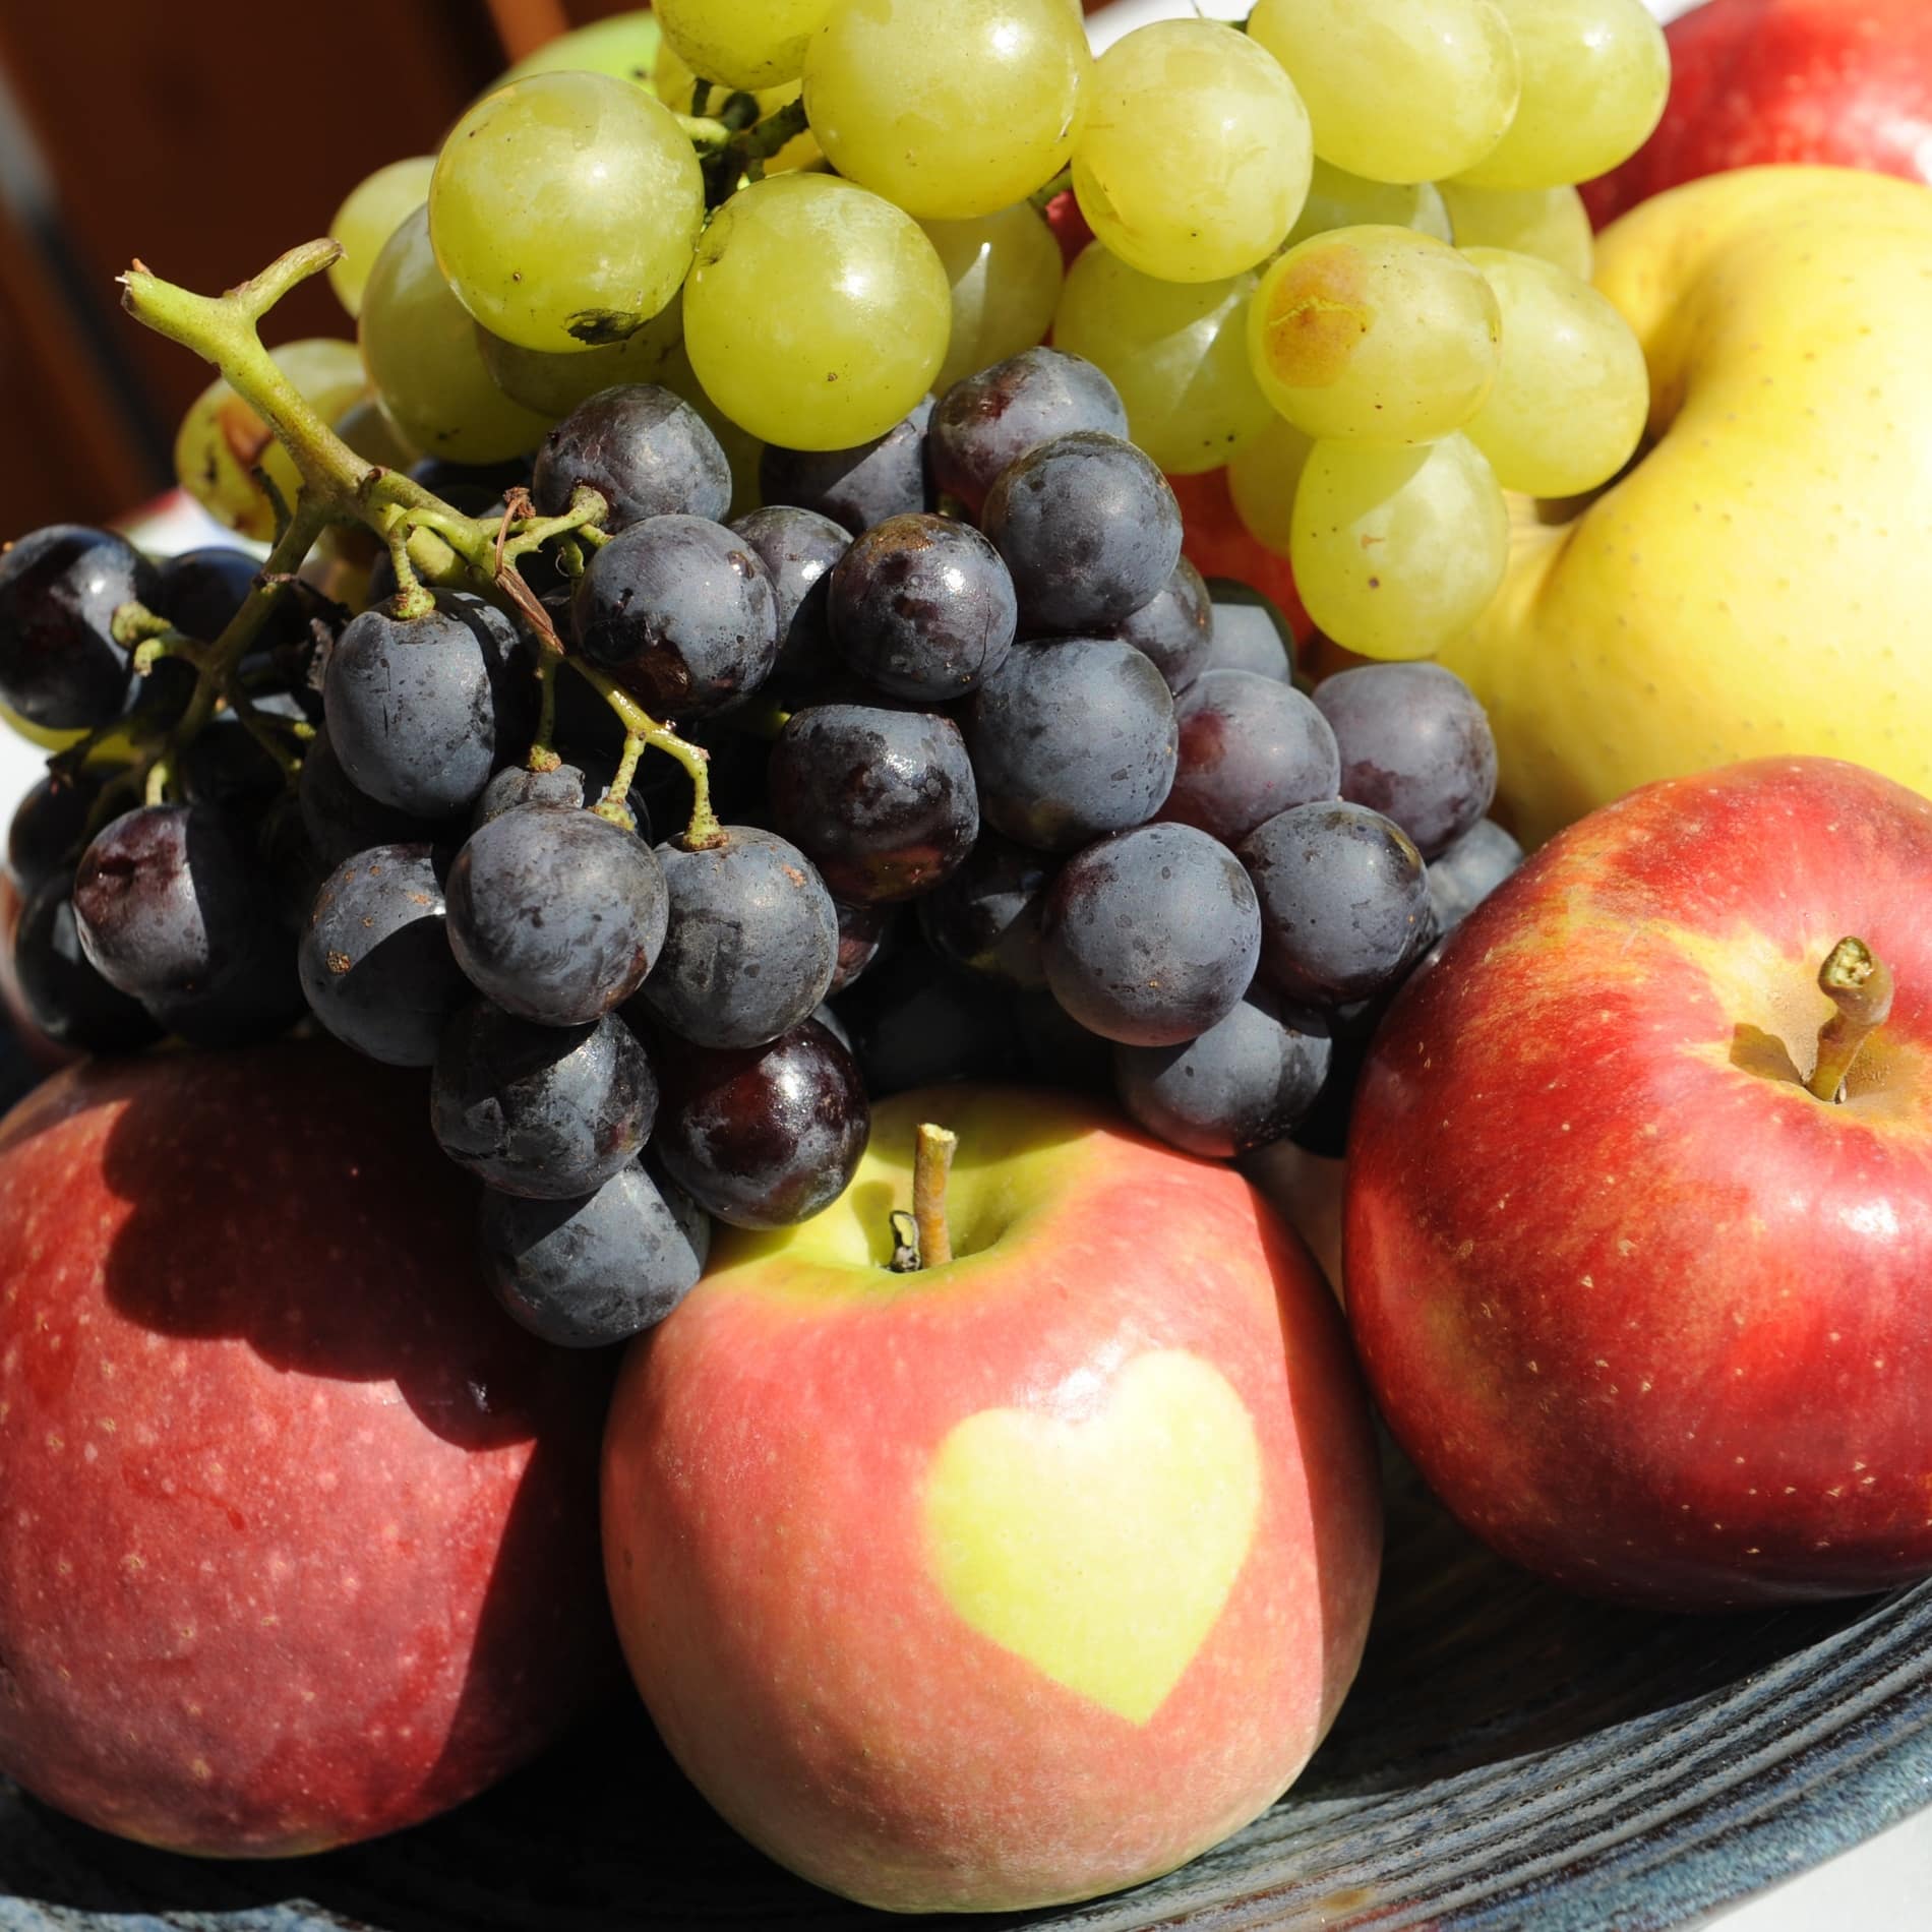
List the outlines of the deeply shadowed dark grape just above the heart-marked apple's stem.
<svg viewBox="0 0 1932 1932">
<path fill-rule="evenodd" d="M 877 1099 L 945 1080 L 1003 1080 L 1022 1051 L 1005 995 L 980 974 L 906 947 L 838 1003 L 852 1051 Z"/>
</svg>

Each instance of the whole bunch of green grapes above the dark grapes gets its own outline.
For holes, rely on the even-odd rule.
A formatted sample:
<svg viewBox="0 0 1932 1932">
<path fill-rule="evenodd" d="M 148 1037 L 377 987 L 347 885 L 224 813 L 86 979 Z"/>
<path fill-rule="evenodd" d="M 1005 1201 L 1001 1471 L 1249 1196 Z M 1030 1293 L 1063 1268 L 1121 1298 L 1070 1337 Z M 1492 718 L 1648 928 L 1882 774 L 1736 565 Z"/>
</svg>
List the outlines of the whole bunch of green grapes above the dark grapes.
<svg viewBox="0 0 1932 1932">
<path fill-rule="evenodd" d="M 1051 334 L 1161 468 L 1227 466 L 1337 643 L 1428 655 L 1501 580 L 1505 493 L 1598 489 L 1638 442 L 1575 184 L 1665 87 L 1640 0 L 1256 0 L 1097 60 L 1078 0 L 661 0 L 350 193 L 363 386 L 328 402 L 495 462 L 661 383 L 748 498 L 763 442 L 866 442 Z M 1065 272 L 1063 189 L 1094 234 Z M 184 471 L 263 529 L 220 400 Z"/>
</svg>

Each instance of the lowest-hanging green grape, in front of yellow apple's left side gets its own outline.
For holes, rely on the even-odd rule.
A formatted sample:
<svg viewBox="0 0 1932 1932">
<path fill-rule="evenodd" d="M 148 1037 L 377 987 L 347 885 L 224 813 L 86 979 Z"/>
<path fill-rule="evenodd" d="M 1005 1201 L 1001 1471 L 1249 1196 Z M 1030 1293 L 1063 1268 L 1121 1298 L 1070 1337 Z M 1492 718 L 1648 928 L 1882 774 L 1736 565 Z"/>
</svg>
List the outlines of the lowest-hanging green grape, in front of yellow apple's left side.
<svg viewBox="0 0 1932 1932">
<path fill-rule="evenodd" d="M 1294 587 L 1362 657 L 1428 657 L 1495 595 L 1509 508 L 1468 437 L 1422 448 L 1318 442 L 1294 493 Z"/>
</svg>

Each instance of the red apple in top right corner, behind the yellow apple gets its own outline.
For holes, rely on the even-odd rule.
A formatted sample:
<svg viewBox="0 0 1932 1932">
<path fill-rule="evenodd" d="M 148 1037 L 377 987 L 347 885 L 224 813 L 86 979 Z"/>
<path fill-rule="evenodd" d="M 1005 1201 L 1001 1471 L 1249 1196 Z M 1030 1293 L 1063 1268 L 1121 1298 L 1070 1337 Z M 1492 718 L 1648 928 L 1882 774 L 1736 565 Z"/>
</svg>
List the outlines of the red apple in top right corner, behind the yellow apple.
<svg viewBox="0 0 1932 1932">
<path fill-rule="evenodd" d="M 1663 120 L 1582 189 L 1600 228 L 1679 182 L 1768 160 L 1932 180 L 1926 0 L 1708 0 L 1665 37 Z"/>
</svg>

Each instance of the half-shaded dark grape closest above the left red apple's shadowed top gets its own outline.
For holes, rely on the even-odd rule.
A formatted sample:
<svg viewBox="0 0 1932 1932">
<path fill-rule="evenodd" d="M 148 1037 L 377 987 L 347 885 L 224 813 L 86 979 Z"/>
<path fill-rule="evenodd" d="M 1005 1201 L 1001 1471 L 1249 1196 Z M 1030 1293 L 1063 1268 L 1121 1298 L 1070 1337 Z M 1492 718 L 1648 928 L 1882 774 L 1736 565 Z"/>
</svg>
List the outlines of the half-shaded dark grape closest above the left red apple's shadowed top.
<svg viewBox="0 0 1932 1932">
<path fill-rule="evenodd" d="M 429 1066 L 469 997 L 450 952 L 442 879 L 425 844 L 377 846 L 323 883 L 301 935 L 301 991 L 346 1047 L 386 1066 Z"/>
</svg>

